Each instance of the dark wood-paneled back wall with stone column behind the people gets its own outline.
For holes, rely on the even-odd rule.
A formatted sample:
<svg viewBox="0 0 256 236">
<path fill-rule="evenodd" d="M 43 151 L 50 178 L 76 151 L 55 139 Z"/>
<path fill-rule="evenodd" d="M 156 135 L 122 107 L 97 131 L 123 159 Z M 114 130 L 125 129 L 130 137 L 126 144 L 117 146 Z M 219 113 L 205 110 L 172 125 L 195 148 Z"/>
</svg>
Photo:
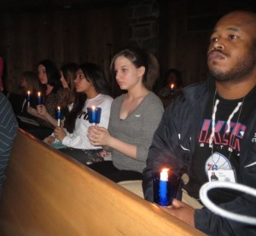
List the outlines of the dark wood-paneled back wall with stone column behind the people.
<svg viewBox="0 0 256 236">
<path fill-rule="evenodd" d="M 113 54 L 128 44 L 151 50 L 161 72 L 179 69 L 185 85 L 204 80 L 212 27 L 234 9 L 255 11 L 256 1 L 9 0 L 0 7 L 7 89 L 18 93 L 21 72 L 36 71 L 43 59 L 57 66 L 95 62 L 108 76 Z M 108 80 L 118 95 L 116 84 Z"/>
</svg>

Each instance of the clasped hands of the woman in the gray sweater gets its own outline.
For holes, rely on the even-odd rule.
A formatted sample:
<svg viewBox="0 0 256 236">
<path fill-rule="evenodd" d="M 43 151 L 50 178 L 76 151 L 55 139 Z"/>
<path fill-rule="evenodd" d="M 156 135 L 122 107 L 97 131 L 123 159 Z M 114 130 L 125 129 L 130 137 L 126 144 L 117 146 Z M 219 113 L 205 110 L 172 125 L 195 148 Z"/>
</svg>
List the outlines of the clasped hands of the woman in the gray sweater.
<svg viewBox="0 0 256 236">
<path fill-rule="evenodd" d="M 107 129 L 92 125 L 88 129 L 87 137 L 93 146 L 109 146 L 111 135 Z"/>
</svg>

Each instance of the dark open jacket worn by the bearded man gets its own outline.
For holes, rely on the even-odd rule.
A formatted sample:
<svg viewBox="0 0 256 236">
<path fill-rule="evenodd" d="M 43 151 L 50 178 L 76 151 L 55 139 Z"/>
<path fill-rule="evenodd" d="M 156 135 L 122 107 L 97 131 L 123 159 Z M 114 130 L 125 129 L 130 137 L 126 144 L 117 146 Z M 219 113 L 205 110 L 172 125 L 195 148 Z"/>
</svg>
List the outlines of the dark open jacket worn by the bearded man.
<svg viewBox="0 0 256 236">
<path fill-rule="evenodd" d="M 215 86 L 212 81 L 210 79 L 189 85 L 183 89 L 182 95 L 166 108 L 149 149 L 147 167 L 143 171 L 143 193 L 148 201 L 153 202 L 153 172 L 168 167 L 177 176 L 189 173 L 201 121 L 208 101 L 212 100 L 214 95 Z M 241 141 L 240 172 L 237 181 L 256 188 L 256 106 Z M 180 190 L 181 188 L 182 186 Z M 177 194 L 177 199 L 181 199 L 181 191 Z M 237 214 L 256 216 L 256 198 L 248 194 L 241 194 L 220 207 Z M 206 207 L 195 210 L 195 227 L 209 235 L 256 235 L 256 226 L 218 216 Z"/>
</svg>

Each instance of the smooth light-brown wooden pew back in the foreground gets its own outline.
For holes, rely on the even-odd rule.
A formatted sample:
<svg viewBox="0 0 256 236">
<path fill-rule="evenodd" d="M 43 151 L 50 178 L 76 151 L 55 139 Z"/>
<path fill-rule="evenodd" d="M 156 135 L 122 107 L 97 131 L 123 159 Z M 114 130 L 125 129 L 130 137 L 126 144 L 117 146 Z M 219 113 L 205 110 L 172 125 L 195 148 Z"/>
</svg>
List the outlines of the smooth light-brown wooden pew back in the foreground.
<svg viewBox="0 0 256 236">
<path fill-rule="evenodd" d="M 0 201 L 0 235 L 204 234 L 19 130 Z"/>
</svg>

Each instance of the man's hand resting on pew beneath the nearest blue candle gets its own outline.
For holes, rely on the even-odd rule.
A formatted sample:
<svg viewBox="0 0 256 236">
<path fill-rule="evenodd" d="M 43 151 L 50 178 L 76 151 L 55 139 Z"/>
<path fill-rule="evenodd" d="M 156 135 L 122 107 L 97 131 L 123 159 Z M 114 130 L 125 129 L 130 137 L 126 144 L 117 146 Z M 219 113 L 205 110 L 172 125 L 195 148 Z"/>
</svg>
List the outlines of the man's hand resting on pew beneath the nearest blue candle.
<svg viewBox="0 0 256 236">
<path fill-rule="evenodd" d="M 173 199 L 170 207 L 162 207 L 162 209 L 166 210 L 166 212 L 170 213 L 172 216 L 176 216 L 183 222 L 187 222 L 189 225 L 195 227 L 195 209 L 188 204 L 184 204 L 177 199 Z"/>
</svg>

